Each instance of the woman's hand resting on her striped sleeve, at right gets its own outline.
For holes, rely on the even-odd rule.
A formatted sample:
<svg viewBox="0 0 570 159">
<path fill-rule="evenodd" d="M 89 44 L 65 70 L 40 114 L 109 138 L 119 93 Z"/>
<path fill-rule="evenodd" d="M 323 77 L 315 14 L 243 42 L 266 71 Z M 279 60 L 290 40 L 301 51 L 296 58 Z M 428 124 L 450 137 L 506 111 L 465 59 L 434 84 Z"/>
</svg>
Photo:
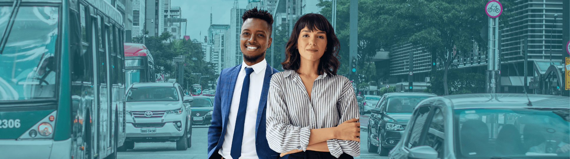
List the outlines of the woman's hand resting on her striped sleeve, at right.
<svg viewBox="0 0 570 159">
<path fill-rule="evenodd" d="M 360 138 L 360 123 L 358 118 L 353 118 L 339 124 L 335 128 L 335 138 L 339 140 L 352 140 L 359 141 Z"/>
</svg>

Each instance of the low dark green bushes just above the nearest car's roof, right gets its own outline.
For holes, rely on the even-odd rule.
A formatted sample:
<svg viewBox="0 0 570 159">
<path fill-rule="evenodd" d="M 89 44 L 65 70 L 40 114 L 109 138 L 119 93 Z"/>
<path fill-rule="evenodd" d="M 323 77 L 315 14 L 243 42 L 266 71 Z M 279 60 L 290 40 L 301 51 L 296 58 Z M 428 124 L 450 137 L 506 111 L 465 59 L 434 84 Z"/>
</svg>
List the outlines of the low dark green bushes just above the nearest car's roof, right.
<svg viewBox="0 0 570 159">
<path fill-rule="evenodd" d="M 424 89 L 426 93 L 434 93 L 436 95 L 445 95 L 443 90 L 443 70 L 430 72 L 433 77 L 428 82 L 430 85 Z M 484 93 L 485 92 L 485 75 L 475 73 L 463 73 L 457 69 L 450 69 L 447 72 L 447 88 L 449 93 Z"/>
</svg>

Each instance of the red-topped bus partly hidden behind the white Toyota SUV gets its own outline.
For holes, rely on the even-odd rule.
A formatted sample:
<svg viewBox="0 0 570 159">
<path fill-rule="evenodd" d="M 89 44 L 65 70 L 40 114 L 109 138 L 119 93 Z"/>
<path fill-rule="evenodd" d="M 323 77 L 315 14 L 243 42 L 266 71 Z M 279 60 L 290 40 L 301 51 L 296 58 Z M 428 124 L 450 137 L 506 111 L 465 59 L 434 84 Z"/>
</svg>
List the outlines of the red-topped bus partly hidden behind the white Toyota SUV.
<svg viewBox="0 0 570 159">
<path fill-rule="evenodd" d="M 144 44 L 124 43 L 125 79 L 127 86 L 135 82 L 155 82 L 154 61 Z"/>
</svg>

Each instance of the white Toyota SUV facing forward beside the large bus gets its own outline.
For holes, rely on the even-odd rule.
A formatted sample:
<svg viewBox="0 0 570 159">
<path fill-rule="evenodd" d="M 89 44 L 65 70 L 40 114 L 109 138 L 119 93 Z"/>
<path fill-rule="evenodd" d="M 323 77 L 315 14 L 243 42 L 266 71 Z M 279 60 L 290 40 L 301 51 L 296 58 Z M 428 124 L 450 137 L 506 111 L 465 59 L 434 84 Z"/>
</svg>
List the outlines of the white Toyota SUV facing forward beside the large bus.
<svg viewBox="0 0 570 159">
<path fill-rule="evenodd" d="M 135 142 L 176 142 L 177 150 L 192 146 L 190 102 L 178 83 L 135 83 L 127 92 L 127 149 Z"/>
</svg>

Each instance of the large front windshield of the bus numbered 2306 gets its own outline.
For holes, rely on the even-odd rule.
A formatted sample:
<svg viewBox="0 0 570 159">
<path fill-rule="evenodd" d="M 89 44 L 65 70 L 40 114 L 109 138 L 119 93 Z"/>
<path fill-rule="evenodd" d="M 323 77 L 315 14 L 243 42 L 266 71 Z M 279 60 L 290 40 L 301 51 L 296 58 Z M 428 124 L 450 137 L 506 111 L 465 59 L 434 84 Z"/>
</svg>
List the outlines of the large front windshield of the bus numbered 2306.
<svg viewBox="0 0 570 159">
<path fill-rule="evenodd" d="M 0 34 L 11 11 L 11 6 L 0 6 Z M 19 7 L 0 54 L 0 101 L 55 97 L 58 22 L 58 7 Z"/>
</svg>

